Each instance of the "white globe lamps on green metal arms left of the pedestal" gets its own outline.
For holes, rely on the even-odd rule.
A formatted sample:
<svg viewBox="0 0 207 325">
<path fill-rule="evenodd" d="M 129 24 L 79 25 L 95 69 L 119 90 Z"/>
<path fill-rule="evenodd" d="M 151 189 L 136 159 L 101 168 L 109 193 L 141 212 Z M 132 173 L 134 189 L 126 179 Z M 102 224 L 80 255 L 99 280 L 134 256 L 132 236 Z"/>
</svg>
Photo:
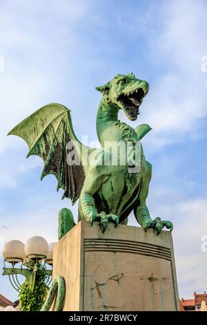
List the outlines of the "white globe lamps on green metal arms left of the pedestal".
<svg viewBox="0 0 207 325">
<path fill-rule="evenodd" d="M 46 264 L 52 266 L 52 252 L 55 243 L 50 243 L 41 236 L 33 236 L 25 245 L 21 241 L 8 241 L 3 247 L 4 268 L 3 275 L 8 275 L 13 288 L 19 292 L 21 284 L 18 275 L 26 277 L 32 283 L 32 290 L 37 275 L 46 277 L 46 285 L 50 285 L 52 270 L 46 270 Z M 12 267 L 6 267 L 10 263 Z M 15 268 L 21 263 L 20 268 Z"/>
</svg>

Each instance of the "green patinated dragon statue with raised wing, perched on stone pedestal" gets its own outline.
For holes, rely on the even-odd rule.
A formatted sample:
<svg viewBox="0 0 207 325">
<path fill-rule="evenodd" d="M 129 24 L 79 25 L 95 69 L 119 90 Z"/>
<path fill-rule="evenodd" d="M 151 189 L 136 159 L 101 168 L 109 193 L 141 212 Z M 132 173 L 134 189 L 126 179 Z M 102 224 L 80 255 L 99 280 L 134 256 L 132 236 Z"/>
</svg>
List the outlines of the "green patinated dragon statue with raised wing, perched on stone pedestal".
<svg viewBox="0 0 207 325">
<path fill-rule="evenodd" d="M 144 157 L 140 140 L 150 127 L 141 124 L 132 129 L 118 120 L 121 109 L 129 120 L 137 119 L 139 106 L 148 93 L 148 83 L 130 73 L 117 75 L 97 90 L 102 94 L 97 111 L 100 149 L 79 142 L 72 128 L 70 110 L 61 104 L 43 106 L 9 134 L 20 136 L 28 143 L 28 156 L 43 158 L 41 179 L 54 174 L 57 190 L 63 189 L 63 198 L 70 198 L 72 203 L 79 198 L 79 221 L 86 220 L 91 224 L 99 221 L 104 232 L 109 222 L 115 226 L 127 224 L 130 212 L 134 211 L 144 230 L 154 228 L 159 234 L 166 227 L 171 231 L 172 223 L 160 218 L 152 220 L 146 206 L 152 167 Z M 72 147 L 66 149 L 68 143 L 72 143 Z M 123 164 L 123 155 L 117 151 L 117 164 L 112 164 L 114 145 L 121 143 L 132 143 L 130 154 L 126 154 Z M 75 222 L 72 212 L 66 208 L 59 213 L 59 220 L 60 239 Z"/>
</svg>

